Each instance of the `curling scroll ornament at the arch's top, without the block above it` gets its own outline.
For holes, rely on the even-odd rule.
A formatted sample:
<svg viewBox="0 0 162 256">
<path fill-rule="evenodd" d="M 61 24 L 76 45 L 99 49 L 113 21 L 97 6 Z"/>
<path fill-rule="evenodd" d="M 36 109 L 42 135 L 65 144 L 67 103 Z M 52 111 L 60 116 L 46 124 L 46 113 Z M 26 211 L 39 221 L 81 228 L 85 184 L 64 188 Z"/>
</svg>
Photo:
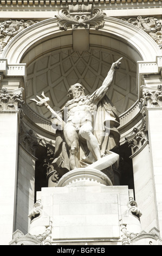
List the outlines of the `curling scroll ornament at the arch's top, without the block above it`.
<svg viewBox="0 0 162 256">
<path fill-rule="evenodd" d="M 105 13 L 100 9 L 94 9 L 92 13 L 70 14 L 68 10 L 62 9 L 55 16 L 58 19 L 57 25 L 59 28 L 66 31 L 68 28 L 77 29 L 78 27 L 85 29 L 89 29 L 89 27 L 95 29 L 102 28 L 104 25 L 103 16 L 105 16 Z"/>
</svg>

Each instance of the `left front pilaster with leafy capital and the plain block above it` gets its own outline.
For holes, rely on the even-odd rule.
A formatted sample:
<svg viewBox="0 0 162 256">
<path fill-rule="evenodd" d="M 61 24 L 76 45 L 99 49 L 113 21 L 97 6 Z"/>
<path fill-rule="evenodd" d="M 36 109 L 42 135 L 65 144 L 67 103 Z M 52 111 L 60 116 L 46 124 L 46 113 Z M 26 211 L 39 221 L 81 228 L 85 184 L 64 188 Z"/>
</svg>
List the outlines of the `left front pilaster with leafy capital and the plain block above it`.
<svg viewBox="0 0 162 256">
<path fill-rule="evenodd" d="M 21 68 L 20 68 L 21 66 Z M 0 244 L 8 245 L 16 217 L 18 136 L 25 83 L 25 64 L 0 59 Z"/>
</svg>

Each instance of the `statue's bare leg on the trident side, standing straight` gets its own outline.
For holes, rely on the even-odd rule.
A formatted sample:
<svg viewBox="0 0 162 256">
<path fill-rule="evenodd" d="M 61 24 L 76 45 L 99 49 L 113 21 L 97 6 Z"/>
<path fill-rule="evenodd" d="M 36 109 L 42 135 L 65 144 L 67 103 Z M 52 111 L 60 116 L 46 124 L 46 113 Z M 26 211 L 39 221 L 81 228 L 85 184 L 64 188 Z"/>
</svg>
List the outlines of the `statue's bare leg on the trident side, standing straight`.
<svg viewBox="0 0 162 256">
<path fill-rule="evenodd" d="M 68 147 L 69 147 L 69 164 L 70 169 L 76 169 L 80 168 L 80 162 L 77 158 L 77 153 L 79 151 L 79 137 L 77 135 L 77 132 L 75 130 L 75 127 L 67 123 L 64 126 L 63 130 L 64 140 L 66 141 Z"/>
</svg>

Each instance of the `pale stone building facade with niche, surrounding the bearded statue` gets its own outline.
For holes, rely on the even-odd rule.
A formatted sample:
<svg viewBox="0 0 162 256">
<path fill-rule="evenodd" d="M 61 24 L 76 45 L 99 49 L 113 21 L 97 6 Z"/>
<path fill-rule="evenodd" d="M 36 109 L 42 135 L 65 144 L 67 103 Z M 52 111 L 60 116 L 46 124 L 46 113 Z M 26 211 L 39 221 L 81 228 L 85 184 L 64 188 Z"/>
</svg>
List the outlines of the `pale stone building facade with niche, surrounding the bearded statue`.
<svg viewBox="0 0 162 256">
<path fill-rule="evenodd" d="M 0 1 L 1 245 L 161 245 L 161 5 Z M 51 112 L 71 84 L 91 95 L 120 58 L 107 93 L 118 165 L 61 178 Z"/>
</svg>

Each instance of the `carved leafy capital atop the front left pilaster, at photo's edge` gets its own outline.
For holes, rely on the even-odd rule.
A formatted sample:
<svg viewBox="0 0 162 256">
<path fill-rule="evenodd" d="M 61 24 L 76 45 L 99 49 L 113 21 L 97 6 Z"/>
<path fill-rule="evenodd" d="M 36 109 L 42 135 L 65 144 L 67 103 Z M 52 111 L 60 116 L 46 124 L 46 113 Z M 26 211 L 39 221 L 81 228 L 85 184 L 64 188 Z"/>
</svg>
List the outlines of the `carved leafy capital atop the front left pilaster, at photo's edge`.
<svg viewBox="0 0 162 256">
<path fill-rule="evenodd" d="M 22 100 L 23 88 L 8 92 L 7 88 L 0 91 L 0 108 L 1 110 L 22 110 L 24 101 Z"/>
</svg>

